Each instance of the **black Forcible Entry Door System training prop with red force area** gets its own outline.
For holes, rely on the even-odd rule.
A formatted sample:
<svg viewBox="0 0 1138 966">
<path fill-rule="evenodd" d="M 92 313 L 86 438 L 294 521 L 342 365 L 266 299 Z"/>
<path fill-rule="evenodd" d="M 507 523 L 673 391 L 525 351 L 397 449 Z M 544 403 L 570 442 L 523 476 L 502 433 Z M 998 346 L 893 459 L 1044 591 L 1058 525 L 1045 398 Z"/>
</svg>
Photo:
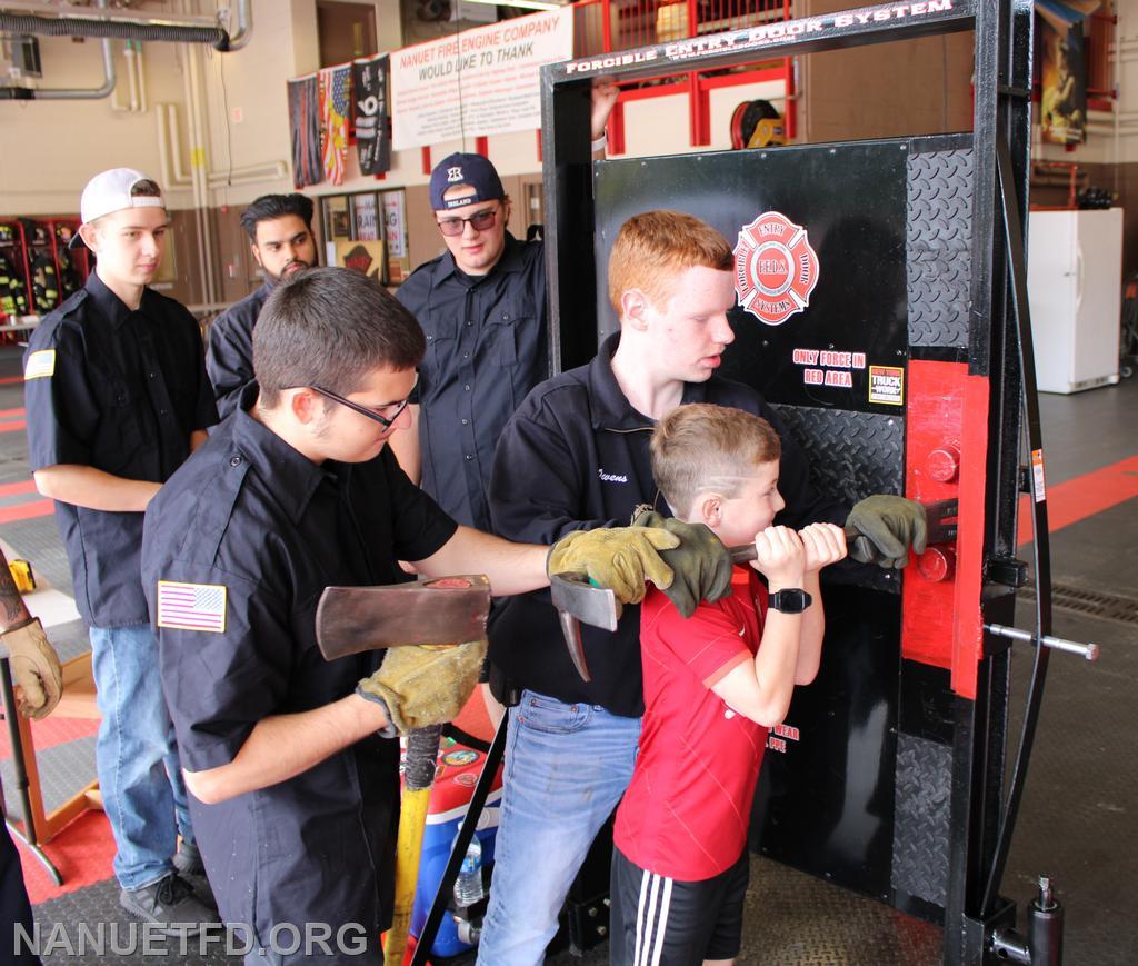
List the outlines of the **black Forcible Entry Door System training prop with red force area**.
<svg viewBox="0 0 1138 966">
<path fill-rule="evenodd" d="M 818 484 L 850 503 L 871 493 L 957 501 L 956 539 L 904 577 L 861 572 L 827 591 L 823 671 L 772 735 L 754 829 L 775 858 L 942 923 L 946 964 L 1058 961 L 1062 916 L 1049 894 L 1032 903 L 1024 938 L 998 890 L 1048 647 L 1092 657 L 1049 636 L 1023 283 L 1031 17 L 1028 0 L 883 5 L 542 72 L 554 366 L 587 362 L 616 328 L 603 272 L 620 224 L 650 208 L 685 210 L 736 245 L 725 374 L 775 405 Z M 635 81 L 973 28 L 970 133 L 591 162 L 594 76 Z M 583 257 L 588 237 L 595 250 Z M 593 317 L 595 329 L 580 324 Z M 1038 536 L 1030 633 L 1009 627 L 1026 575 L 1014 558 L 1021 492 Z M 1005 789 L 1012 639 L 1048 647 L 1037 647 Z M 777 835 L 765 834 L 770 824 Z"/>
</svg>

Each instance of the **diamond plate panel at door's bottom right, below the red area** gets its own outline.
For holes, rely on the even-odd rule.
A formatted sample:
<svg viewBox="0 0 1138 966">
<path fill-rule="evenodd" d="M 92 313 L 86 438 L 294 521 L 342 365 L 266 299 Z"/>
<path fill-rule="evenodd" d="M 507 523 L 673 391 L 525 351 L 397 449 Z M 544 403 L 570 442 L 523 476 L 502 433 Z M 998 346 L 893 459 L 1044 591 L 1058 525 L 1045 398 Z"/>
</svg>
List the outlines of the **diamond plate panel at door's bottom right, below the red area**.
<svg viewBox="0 0 1138 966">
<path fill-rule="evenodd" d="M 948 893 L 951 771 L 950 748 L 898 735 L 892 885 L 937 906 Z"/>
</svg>

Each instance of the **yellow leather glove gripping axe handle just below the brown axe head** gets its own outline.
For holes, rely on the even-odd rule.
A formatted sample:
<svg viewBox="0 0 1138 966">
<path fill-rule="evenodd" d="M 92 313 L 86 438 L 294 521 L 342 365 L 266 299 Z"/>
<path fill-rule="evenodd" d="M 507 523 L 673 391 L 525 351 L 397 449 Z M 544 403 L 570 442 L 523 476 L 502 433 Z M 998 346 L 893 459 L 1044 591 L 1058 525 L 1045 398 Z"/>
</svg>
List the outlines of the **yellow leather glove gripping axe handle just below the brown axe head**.
<svg viewBox="0 0 1138 966">
<path fill-rule="evenodd" d="M 384 705 L 391 723 L 381 733 L 385 737 L 444 725 L 467 703 L 485 658 L 485 641 L 391 647 L 379 670 L 360 682 L 356 694 Z"/>
</svg>

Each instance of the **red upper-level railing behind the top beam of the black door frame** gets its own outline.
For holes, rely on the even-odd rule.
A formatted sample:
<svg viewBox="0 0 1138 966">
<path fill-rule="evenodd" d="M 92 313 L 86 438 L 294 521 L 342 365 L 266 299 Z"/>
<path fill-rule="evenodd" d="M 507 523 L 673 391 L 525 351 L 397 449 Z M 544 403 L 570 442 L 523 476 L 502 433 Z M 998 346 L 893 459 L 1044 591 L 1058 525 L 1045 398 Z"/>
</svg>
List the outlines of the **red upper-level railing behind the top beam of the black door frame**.
<svg viewBox="0 0 1138 966">
<path fill-rule="evenodd" d="M 750 27 L 791 18 L 791 0 L 579 0 L 574 3 L 574 57 L 591 57 L 654 43 Z M 708 77 L 698 71 L 622 84 L 620 102 L 609 123 L 609 151 L 622 154 L 624 109 L 628 100 L 686 93 L 693 146 L 709 145 L 712 88 L 782 80 L 786 90 L 786 134 L 794 135 L 793 64 L 783 57 L 769 64 Z M 660 81 L 665 81 L 661 83 Z"/>
</svg>

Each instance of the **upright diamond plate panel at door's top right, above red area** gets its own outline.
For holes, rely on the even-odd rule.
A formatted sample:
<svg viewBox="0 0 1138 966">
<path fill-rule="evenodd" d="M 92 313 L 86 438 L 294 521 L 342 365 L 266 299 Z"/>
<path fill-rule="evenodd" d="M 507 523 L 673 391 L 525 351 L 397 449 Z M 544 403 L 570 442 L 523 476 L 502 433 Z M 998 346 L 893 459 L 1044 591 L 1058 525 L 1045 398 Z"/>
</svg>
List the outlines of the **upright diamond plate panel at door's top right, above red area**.
<svg viewBox="0 0 1138 966">
<path fill-rule="evenodd" d="M 910 155 L 907 168 L 909 344 L 966 346 L 972 283 L 972 151 Z"/>
</svg>

